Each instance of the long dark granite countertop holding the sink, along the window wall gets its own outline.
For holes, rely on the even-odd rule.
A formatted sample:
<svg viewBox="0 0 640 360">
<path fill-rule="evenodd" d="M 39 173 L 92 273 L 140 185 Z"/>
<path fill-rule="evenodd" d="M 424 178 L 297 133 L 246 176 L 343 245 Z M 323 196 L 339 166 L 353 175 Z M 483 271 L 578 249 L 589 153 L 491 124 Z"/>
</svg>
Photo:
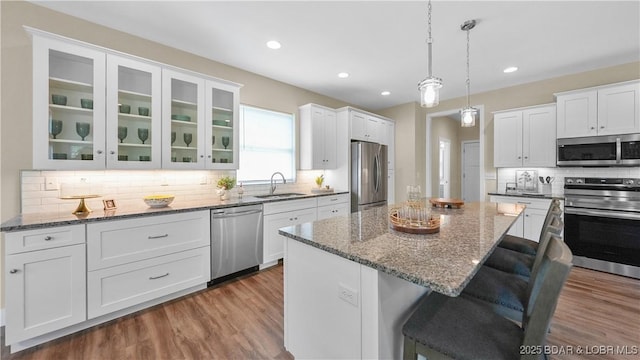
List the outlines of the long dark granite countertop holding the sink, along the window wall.
<svg viewBox="0 0 640 360">
<path fill-rule="evenodd" d="M 243 196 L 242 198 L 231 198 L 229 200 L 220 200 L 219 196 L 204 197 L 198 200 L 185 201 L 176 197 L 171 205 L 164 208 L 150 208 L 140 202 L 140 206 L 117 208 L 114 210 L 94 210 L 87 216 L 76 216 L 69 212 L 57 213 L 37 213 L 37 214 L 20 214 L 8 221 L 0 224 L 0 231 L 20 231 L 30 229 L 40 229 L 54 226 L 83 224 L 95 221 L 126 219 L 134 217 L 144 217 L 153 215 L 167 215 L 180 212 L 222 209 L 234 206 L 245 206 L 263 204 L 267 202 L 307 199 L 320 196 L 332 196 L 340 194 L 348 194 L 348 191 L 336 191 L 332 193 L 308 193 L 294 197 L 260 199 L 255 196 Z"/>
</svg>

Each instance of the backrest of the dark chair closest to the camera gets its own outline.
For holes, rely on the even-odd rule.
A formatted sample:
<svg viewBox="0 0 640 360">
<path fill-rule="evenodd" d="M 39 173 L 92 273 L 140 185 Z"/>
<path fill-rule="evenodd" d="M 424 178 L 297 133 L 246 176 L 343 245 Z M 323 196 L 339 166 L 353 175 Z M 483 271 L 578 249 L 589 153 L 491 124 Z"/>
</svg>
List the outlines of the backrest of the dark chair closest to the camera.
<svg viewBox="0 0 640 360">
<path fill-rule="evenodd" d="M 544 345 L 562 287 L 571 271 L 571 250 L 558 236 L 551 235 L 540 269 L 529 290 L 522 317 L 523 345 Z"/>
</svg>

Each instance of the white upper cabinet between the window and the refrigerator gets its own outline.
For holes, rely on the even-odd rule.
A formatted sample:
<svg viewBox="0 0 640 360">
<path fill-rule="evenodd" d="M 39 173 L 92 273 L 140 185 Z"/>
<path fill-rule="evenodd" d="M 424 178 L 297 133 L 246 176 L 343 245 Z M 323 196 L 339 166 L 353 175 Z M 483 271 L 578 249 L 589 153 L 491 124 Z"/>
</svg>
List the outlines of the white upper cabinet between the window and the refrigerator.
<svg viewBox="0 0 640 360">
<path fill-rule="evenodd" d="M 337 161 L 336 111 L 315 104 L 301 106 L 300 168 L 335 169 Z"/>
</svg>

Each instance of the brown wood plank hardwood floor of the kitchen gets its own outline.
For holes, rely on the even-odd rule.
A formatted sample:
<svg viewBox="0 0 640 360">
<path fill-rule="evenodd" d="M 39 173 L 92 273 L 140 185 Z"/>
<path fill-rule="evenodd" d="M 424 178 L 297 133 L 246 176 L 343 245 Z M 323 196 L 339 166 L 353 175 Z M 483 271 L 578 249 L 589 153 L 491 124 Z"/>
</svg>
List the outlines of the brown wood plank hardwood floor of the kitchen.
<svg viewBox="0 0 640 360">
<path fill-rule="evenodd" d="M 283 313 L 277 266 L 13 355 L 3 334 L 2 359 L 292 359 Z M 548 344 L 574 352 L 552 359 L 639 358 L 609 350 L 640 345 L 640 280 L 574 268 Z"/>
</svg>

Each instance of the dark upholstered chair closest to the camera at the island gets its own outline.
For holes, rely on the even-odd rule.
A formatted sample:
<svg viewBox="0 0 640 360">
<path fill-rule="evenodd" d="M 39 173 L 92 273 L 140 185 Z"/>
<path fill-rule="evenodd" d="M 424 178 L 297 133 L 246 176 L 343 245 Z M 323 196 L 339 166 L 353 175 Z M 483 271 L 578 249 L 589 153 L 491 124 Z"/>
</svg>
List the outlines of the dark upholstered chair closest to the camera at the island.
<svg viewBox="0 0 640 360">
<path fill-rule="evenodd" d="M 404 324 L 404 359 L 537 359 L 521 346 L 544 346 L 558 296 L 571 270 L 571 251 L 553 236 L 528 292 L 522 325 L 486 304 L 430 293 Z"/>
</svg>

